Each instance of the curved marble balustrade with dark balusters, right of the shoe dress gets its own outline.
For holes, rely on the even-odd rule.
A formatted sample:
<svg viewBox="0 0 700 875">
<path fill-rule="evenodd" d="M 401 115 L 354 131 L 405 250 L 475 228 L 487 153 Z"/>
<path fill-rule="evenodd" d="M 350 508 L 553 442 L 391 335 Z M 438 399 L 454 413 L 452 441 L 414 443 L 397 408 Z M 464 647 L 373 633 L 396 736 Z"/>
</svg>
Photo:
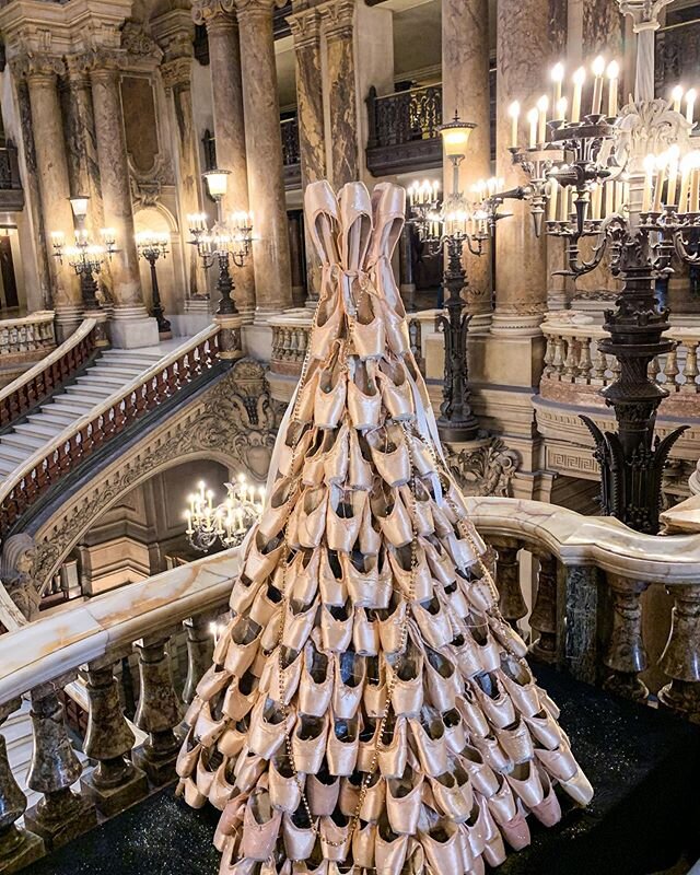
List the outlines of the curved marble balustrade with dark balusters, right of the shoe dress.
<svg viewBox="0 0 700 875">
<path fill-rule="evenodd" d="M 503 615 L 529 633 L 537 658 L 632 699 L 645 700 L 651 687 L 700 721 L 700 535 L 641 535 L 612 517 L 536 501 L 467 504 L 498 552 Z M 665 646 L 665 599 L 652 597 L 662 587 L 673 599 Z"/>
</svg>

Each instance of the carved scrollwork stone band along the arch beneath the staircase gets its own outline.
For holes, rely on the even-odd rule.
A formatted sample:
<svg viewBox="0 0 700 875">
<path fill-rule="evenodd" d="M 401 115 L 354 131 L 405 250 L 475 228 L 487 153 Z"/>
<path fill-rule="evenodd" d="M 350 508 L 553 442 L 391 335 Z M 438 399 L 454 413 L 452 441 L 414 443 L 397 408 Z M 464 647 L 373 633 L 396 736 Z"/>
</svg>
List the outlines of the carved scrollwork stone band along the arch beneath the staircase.
<svg viewBox="0 0 700 875">
<path fill-rule="evenodd" d="M 266 369 L 241 359 L 210 389 L 168 416 L 124 458 L 95 474 L 34 533 L 35 576 L 46 586 L 73 545 L 104 511 L 160 470 L 188 458 L 218 458 L 262 482 L 284 405 L 270 398 Z"/>
</svg>

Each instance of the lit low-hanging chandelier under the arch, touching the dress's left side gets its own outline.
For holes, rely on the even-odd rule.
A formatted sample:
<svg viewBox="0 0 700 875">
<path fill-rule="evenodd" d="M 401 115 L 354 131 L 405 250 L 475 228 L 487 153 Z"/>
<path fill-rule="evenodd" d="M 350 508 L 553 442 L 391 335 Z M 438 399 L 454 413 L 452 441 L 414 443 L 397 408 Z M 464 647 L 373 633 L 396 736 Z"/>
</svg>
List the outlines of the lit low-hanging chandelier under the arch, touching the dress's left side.
<svg viewBox="0 0 700 875">
<path fill-rule="evenodd" d="M 265 502 L 264 487 L 248 485 L 245 475 L 240 474 L 235 483 L 225 483 L 226 498 L 214 506 L 213 491 L 200 480 L 197 492 L 188 498 L 189 508 L 185 511 L 187 540 L 195 550 L 207 552 L 217 540 L 225 547 L 237 547 L 262 513 Z"/>
</svg>

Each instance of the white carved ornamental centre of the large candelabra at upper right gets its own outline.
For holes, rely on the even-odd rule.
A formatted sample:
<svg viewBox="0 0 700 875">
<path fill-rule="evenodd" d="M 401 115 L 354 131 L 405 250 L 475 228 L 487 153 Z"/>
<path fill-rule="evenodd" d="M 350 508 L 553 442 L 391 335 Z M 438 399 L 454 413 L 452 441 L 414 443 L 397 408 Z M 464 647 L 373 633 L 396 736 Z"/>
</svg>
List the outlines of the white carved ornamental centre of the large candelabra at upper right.
<svg viewBox="0 0 700 875">
<path fill-rule="evenodd" d="M 616 162 L 632 173 L 643 173 L 648 154 L 661 154 L 676 143 L 681 156 L 691 148 L 690 125 L 681 113 L 676 113 L 668 101 L 640 101 L 622 107 L 617 122 Z"/>
</svg>

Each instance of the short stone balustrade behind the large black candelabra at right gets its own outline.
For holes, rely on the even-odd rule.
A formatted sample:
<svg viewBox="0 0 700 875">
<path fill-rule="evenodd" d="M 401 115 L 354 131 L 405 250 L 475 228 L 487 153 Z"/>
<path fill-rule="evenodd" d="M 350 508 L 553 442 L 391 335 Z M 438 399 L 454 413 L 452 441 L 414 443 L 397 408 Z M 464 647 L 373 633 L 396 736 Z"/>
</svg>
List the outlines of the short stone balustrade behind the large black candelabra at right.
<svg viewBox="0 0 700 875">
<path fill-rule="evenodd" d="M 598 390 L 619 372 L 617 359 L 600 350 L 608 332 L 600 325 L 578 320 L 546 320 L 541 326 L 547 340 L 540 394 L 545 398 L 582 405 L 604 405 Z M 654 359 L 649 375 L 669 393 L 662 402 L 661 416 L 700 416 L 698 347 L 700 327 L 674 326 L 667 335 L 674 349 Z M 697 400 L 696 400 L 697 399 Z"/>
</svg>

